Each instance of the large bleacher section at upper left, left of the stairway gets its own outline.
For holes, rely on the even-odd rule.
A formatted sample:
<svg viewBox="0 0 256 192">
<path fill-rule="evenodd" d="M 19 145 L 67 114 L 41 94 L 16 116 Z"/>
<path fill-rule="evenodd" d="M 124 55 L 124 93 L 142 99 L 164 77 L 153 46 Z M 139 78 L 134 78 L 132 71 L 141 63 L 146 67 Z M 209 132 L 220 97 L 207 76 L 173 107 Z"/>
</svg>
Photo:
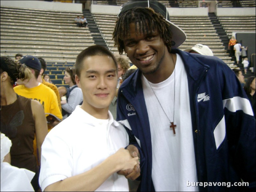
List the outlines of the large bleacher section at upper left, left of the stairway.
<svg viewBox="0 0 256 192">
<path fill-rule="evenodd" d="M 17 53 L 47 62 L 74 62 L 84 48 L 94 45 L 88 28 L 74 18 L 82 12 L 1 7 L 1 55 Z"/>
</svg>

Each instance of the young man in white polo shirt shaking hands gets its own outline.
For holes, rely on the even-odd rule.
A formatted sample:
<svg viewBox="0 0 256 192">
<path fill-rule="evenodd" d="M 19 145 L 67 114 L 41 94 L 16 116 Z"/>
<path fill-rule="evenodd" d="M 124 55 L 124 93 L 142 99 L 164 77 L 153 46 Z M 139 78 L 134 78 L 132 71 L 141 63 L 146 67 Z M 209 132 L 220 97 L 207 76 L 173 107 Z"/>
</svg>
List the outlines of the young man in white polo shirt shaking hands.
<svg viewBox="0 0 256 192">
<path fill-rule="evenodd" d="M 117 62 L 102 46 L 83 50 L 76 60 L 83 104 L 47 135 L 42 145 L 42 191 L 129 191 L 116 172 L 139 168 L 128 135 L 109 112 L 117 88 Z"/>
</svg>

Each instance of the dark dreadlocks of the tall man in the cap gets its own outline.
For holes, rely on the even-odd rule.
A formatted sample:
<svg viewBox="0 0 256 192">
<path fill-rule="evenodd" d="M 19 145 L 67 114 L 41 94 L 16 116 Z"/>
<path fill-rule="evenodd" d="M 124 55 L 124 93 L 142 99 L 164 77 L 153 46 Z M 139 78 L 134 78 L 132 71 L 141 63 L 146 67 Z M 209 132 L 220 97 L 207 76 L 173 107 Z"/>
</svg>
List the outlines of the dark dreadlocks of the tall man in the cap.
<svg viewBox="0 0 256 192">
<path fill-rule="evenodd" d="M 157 31 L 168 48 L 171 51 L 172 33 L 169 29 L 169 23 L 163 16 L 155 12 L 151 8 L 135 7 L 122 13 L 116 21 L 116 26 L 113 32 L 114 46 L 117 46 L 119 54 L 124 51 L 124 37 L 130 35 L 130 23 L 135 23 L 136 33 L 150 33 Z"/>
</svg>

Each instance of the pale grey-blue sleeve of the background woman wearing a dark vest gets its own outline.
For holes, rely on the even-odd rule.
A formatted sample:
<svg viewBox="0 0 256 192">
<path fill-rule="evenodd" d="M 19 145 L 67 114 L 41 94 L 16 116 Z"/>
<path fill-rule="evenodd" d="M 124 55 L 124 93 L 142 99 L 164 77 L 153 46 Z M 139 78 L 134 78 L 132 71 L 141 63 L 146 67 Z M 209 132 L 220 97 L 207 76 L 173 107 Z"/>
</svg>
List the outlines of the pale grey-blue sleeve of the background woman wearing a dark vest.
<svg viewBox="0 0 256 192">
<path fill-rule="evenodd" d="M 68 113 L 72 113 L 76 106 L 78 106 L 83 101 L 83 93 L 82 90 L 77 87 L 74 88 L 68 97 L 68 102 L 63 104 L 61 107 Z"/>
</svg>

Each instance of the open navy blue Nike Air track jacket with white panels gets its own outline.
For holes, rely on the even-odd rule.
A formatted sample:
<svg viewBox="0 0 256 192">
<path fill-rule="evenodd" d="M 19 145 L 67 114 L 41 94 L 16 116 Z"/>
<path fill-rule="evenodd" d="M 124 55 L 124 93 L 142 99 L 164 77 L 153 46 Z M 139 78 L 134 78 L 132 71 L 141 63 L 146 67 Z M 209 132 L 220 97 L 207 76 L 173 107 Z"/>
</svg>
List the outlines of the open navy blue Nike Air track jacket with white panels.
<svg viewBox="0 0 256 192">
<path fill-rule="evenodd" d="M 242 178 L 255 191 L 255 119 L 234 72 L 214 56 L 179 49 L 172 49 L 171 53 L 181 56 L 187 73 L 198 182 L 231 182 L 232 185 Z M 208 95 L 207 100 L 201 95 Z M 139 70 L 119 89 L 117 121 L 125 126 L 130 144 L 140 152 L 138 190 L 154 191 L 150 125 Z M 199 189 L 246 190 L 235 186 L 200 186 Z"/>
</svg>

